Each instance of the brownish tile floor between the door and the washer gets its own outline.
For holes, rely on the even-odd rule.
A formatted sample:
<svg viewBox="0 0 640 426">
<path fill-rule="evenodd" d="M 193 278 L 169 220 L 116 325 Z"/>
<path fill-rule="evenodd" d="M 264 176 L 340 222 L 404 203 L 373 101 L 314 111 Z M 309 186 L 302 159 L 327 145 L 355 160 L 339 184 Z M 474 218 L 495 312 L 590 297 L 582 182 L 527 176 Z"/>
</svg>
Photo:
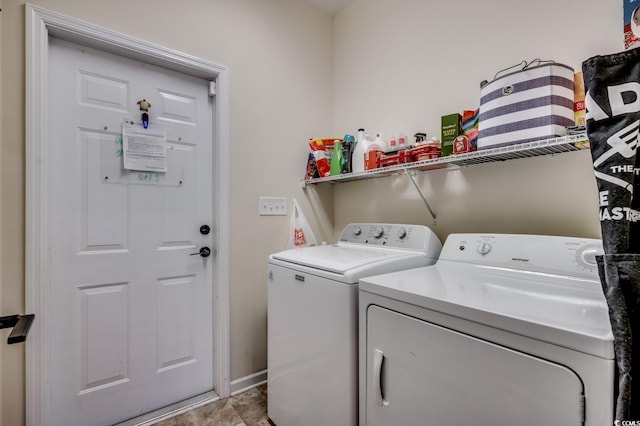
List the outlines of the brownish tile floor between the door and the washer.
<svg viewBox="0 0 640 426">
<path fill-rule="evenodd" d="M 155 423 L 155 426 L 270 426 L 267 385 L 211 402 Z"/>
</svg>

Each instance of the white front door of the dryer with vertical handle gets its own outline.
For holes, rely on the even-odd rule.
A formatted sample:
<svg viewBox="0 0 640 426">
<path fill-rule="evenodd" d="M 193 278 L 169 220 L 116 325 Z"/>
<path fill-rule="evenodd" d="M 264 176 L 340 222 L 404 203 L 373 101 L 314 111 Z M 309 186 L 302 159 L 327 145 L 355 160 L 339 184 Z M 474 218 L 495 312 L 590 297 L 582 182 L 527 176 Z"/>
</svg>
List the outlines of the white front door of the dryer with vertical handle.
<svg viewBox="0 0 640 426">
<path fill-rule="evenodd" d="M 583 424 L 562 365 L 373 305 L 366 341 L 367 426 Z"/>
</svg>

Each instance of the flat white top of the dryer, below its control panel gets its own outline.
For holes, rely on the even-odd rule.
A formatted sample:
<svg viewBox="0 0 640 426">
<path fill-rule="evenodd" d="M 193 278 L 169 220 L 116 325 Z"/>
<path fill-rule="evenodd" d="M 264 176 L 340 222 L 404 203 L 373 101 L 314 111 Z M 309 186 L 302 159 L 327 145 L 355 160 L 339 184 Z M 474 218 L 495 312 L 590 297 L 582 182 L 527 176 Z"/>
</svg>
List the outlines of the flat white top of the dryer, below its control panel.
<svg viewBox="0 0 640 426">
<path fill-rule="evenodd" d="M 363 278 L 360 291 L 614 358 L 608 308 L 597 281 L 440 260 Z"/>
</svg>

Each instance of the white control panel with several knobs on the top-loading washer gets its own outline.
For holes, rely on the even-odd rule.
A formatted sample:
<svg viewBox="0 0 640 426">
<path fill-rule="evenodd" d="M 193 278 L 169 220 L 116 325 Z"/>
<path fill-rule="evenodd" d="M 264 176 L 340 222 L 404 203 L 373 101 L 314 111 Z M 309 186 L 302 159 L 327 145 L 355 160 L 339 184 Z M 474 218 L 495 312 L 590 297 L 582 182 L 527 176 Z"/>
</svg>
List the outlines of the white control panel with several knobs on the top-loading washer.
<svg viewBox="0 0 640 426">
<path fill-rule="evenodd" d="M 420 251 L 441 246 L 438 237 L 426 226 L 392 223 L 351 223 L 342 231 L 338 243 Z"/>
</svg>

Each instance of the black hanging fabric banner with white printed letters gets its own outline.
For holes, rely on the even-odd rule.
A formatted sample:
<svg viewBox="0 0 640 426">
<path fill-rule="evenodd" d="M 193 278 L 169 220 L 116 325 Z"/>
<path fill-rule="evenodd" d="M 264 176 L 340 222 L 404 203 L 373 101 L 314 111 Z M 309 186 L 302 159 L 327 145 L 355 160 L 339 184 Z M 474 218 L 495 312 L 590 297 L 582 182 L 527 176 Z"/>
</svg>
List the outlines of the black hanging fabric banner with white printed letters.
<svg viewBox="0 0 640 426">
<path fill-rule="evenodd" d="M 582 71 L 605 252 L 598 270 L 618 367 L 615 418 L 640 421 L 640 49 L 595 56 Z"/>
</svg>

